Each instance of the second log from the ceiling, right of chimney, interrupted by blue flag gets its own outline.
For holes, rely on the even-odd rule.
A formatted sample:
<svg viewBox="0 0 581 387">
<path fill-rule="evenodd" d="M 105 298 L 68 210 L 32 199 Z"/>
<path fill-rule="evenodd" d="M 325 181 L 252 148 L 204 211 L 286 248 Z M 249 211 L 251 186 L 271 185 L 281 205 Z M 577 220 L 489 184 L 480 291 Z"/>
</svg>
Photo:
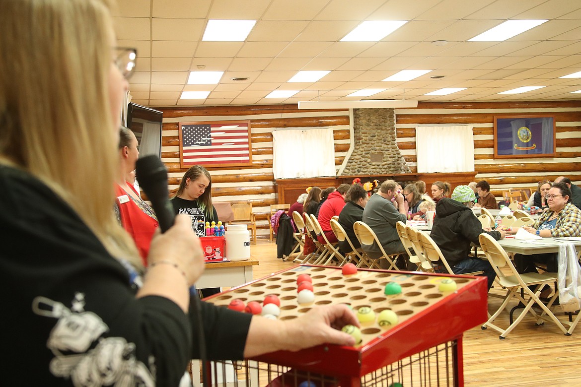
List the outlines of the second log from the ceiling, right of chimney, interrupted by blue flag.
<svg viewBox="0 0 581 387">
<path fill-rule="evenodd" d="M 410 112 L 411 113 L 411 112 Z M 500 113 L 397 114 L 397 124 L 488 124 Z M 581 111 L 555 111 L 556 122 L 581 121 Z"/>
</svg>

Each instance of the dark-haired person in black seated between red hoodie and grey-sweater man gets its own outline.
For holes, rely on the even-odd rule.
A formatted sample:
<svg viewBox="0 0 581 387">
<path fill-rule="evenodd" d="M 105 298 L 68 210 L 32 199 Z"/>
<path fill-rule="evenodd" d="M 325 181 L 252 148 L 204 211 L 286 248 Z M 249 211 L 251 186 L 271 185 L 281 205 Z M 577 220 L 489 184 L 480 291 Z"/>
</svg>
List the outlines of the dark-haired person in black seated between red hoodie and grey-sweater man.
<svg viewBox="0 0 581 387">
<path fill-rule="evenodd" d="M 351 243 L 353 243 L 355 248 L 360 248 L 361 244 L 355 236 L 353 224 L 357 222 L 357 220 L 363 220 L 363 209 L 368 200 L 369 197 L 367 196 L 367 191 L 365 191 L 363 186 L 353 184 L 345 195 L 345 201 L 347 201 L 347 204 L 345 204 L 345 207 L 343 207 L 339 214 L 339 225 L 343 227 L 345 234 L 347 234 L 347 237 L 349 237 L 349 240 L 351 240 Z M 339 241 L 339 248 L 344 253 L 352 251 L 347 240 Z"/>
</svg>

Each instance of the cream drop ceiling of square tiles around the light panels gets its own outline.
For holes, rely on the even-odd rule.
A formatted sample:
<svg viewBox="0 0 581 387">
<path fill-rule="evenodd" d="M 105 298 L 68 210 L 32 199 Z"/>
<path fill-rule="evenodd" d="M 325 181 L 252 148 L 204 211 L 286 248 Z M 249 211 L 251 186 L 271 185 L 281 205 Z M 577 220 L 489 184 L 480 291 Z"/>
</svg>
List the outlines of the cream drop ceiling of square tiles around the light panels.
<svg viewBox="0 0 581 387">
<path fill-rule="evenodd" d="M 209 19 L 257 20 L 243 42 L 203 42 Z M 548 19 L 504 42 L 467 42 L 511 19 Z M 364 99 L 421 101 L 573 100 L 581 78 L 579 0 L 130 0 L 119 2 L 120 46 L 138 50 L 133 102 L 146 106 L 278 104 Z M 364 20 L 409 20 L 379 42 L 339 42 Z M 435 41 L 447 41 L 436 45 Z M 330 70 L 288 83 L 300 70 Z M 382 82 L 400 70 L 433 70 Z M 187 85 L 189 71 L 224 71 L 216 85 Z M 443 76 L 441 79 L 430 77 Z M 232 78 L 248 78 L 234 81 Z M 545 86 L 515 95 L 521 86 Z M 424 96 L 441 88 L 467 88 Z M 273 90 L 298 90 L 265 98 Z M 209 91 L 207 99 L 180 99 Z"/>
</svg>

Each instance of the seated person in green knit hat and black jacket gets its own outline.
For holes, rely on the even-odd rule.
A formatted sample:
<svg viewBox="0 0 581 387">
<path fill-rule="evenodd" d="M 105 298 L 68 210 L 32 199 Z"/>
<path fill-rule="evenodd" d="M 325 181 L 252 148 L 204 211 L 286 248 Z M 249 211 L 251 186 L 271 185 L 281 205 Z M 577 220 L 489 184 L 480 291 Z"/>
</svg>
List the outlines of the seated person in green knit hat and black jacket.
<svg viewBox="0 0 581 387">
<path fill-rule="evenodd" d="M 430 236 L 438 245 L 454 274 L 465 274 L 482 270 L 488 278 L 488 289 L 492 287 L 496 273 L 490 262 L 469 255 L 471 243 L 479 245 L 478 236 L 487 233 L 494 239 L 504 238 L 504 231 L 482 229 L 480 220 L 471 211 L 474 191 L 468 186 L 457 186 L 451 198 L 442 198 L 436 204 L 436 218 Z M 438 273 L 446 273 L 442 265 L 435 266 Z"/>
</svg>

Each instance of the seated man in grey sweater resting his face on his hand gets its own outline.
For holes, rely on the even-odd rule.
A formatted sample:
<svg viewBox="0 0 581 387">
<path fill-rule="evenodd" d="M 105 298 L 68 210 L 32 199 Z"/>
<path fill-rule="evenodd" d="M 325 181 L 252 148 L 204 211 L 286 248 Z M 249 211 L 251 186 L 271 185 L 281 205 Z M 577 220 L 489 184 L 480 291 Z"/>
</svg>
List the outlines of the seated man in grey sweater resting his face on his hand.
<svg viewBox="0 0 581 387">
<path fill-rule="evenodd" d="M 406 251 L 396 230 L 396 223 L 406 223 L 406 218 L 403 195 L 397 193 L 397 183 L 393 180 L 385 180 L 379 186 L 377 193 L 371 195 L 363 209 L 363 222 L 371 227 L 387 254 L 404 254 Z M 372 259 L 382 256 L 375 242 L 372 245 L 363 245 L 362 248 Z M 397 267 L 406 269 L 406 257 L 407 255 L 400 255 L 397 259 Z M 383 267 L 387 262 L 382 259 L 379 263 Z"/>
</svg>

